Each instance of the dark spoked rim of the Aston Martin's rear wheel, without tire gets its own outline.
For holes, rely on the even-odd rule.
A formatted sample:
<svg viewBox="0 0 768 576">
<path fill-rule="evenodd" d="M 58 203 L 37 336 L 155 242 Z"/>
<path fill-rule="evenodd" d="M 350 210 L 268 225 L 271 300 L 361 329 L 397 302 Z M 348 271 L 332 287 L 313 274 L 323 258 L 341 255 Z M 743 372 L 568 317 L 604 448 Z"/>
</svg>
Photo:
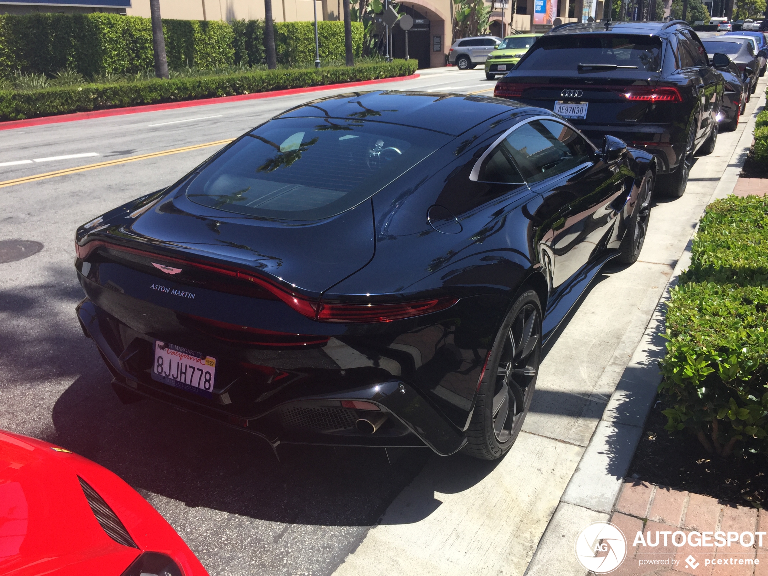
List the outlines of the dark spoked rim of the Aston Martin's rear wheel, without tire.
<svg viewBox="0 0 768 576">
<path fill-rule="evenodd" d="M 522 425 L 536 377 L 541 347 L 541 319 L 533 304 L 523 306 L 509 326 L 496 370 L 493 394 L 493 430 L 496 440 L 507 442 Z"/>
</svg>

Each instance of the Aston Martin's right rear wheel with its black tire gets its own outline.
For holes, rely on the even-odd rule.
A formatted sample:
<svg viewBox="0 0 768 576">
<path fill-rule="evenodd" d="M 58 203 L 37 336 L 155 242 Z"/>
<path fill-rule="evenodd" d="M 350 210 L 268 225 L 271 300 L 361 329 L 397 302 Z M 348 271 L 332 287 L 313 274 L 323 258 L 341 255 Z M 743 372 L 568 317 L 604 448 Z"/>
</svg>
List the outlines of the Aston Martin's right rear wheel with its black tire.
<svg viewBox="0 0 768 576">
<path fill-rule="evenodd" d="M 465 452 L 482 460 L 505 455 L 531 408 L 541 361 L 541 303 L 522 294 L 502 323 L 485 365 Z"/>
</svg>

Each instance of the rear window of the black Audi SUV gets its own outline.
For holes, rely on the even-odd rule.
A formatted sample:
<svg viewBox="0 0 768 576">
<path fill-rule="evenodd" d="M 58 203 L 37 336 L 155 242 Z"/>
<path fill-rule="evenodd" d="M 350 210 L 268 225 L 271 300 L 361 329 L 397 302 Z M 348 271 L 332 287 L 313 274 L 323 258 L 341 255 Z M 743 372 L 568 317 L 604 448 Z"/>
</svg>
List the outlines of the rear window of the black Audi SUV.
<svg viewBox="0 0 768 576">
<path fill-rule="evenodd" d="M 661 69 L 661 39 L 655 36 L 618 34 L 571 34 L 539 38 L 536 48 L 515 70 L 627 70 L 656 72 Z M 614 68 L 615 69 L 615 68 Z"/>
</svg>

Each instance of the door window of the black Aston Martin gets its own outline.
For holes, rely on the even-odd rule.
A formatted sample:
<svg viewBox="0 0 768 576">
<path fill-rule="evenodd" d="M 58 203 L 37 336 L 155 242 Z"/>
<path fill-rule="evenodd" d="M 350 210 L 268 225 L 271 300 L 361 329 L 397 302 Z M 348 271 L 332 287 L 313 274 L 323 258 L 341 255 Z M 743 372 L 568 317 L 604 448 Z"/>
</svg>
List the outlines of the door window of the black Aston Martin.
<svg viewBox="0 0 768 576">
<path fill-rule="evenodd" d="M 512 132 L 505 144 L 529 183 L 577 167 L 588 161 L 593 150 L 577 132 L 551 120 L 528 122 Z"/>
</svg>

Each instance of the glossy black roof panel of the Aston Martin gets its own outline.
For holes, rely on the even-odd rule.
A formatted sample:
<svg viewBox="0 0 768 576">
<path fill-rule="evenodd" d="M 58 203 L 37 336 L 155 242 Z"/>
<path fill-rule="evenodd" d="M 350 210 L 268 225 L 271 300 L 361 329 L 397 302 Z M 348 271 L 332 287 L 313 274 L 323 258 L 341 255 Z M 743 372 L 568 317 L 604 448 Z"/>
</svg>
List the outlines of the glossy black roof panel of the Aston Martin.
<svg viewBox="0 0 768 576">
<path fill-rule="evenodd" d="M 277 118 L 349 118 L 404 124 L 458 136 L 471 127 L 526 104 L 465 94 L 348 92 L 292 108 Z M 513 110 L 511 110 L 513 109 Z"/>
</svg>

